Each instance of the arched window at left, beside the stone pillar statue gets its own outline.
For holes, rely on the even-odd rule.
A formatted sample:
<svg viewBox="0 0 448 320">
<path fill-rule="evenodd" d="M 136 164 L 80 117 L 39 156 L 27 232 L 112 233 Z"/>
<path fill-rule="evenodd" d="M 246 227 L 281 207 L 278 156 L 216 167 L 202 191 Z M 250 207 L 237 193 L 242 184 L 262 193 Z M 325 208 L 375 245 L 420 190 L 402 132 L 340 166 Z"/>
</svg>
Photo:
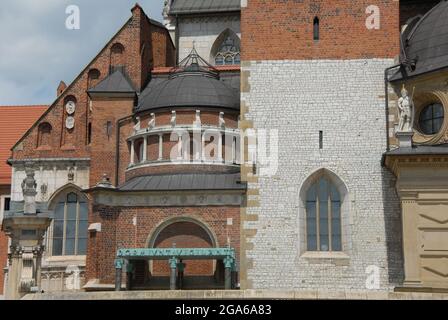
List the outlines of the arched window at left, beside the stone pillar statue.
<svg viewBox="0 0 448 320">
<path fill-rule="evenodd" d="M 87 199 L 75 192 L 67 193 L 54 209 L 53 256 L 86 255 L 87 229 Z"/>
</svg>

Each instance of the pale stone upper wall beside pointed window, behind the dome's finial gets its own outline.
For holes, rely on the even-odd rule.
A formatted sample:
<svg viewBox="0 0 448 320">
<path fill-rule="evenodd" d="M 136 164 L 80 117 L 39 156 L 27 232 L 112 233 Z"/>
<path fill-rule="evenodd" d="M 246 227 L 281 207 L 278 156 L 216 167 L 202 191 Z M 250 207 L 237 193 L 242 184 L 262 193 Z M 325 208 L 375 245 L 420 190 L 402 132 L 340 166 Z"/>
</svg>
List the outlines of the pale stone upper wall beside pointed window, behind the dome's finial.
<svg viewBox="0 0 448 320">
<path fill-rule="evenodd" d="M 179 61 L 188 56 L 194 42 L 199 55 L 214 64 L 214 60 L 210 59 L 212 46 L 226 29 L 231 29 L 241 38 L 238 15 L 181 19 L 178 30 Z"/>
</svg>

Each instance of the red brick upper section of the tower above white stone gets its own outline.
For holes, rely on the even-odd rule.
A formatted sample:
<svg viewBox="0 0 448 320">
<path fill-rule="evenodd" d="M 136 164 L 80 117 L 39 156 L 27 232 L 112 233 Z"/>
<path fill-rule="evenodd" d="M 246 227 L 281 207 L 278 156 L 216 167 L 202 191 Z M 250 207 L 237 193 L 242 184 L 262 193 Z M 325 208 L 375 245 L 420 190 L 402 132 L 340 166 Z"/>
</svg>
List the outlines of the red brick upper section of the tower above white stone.
<svg viewBox="0 0 448 320">
<path fill-rule="evenodd" d="M 376 5 L 381 28 L 366 28 Z M 242 8 L 243 60 L 394 58 L 399 54 L 399 2 L 395 0 L 250 0 Z M 320 19 L 320 41 L 313 20 Z"/>
</svg>

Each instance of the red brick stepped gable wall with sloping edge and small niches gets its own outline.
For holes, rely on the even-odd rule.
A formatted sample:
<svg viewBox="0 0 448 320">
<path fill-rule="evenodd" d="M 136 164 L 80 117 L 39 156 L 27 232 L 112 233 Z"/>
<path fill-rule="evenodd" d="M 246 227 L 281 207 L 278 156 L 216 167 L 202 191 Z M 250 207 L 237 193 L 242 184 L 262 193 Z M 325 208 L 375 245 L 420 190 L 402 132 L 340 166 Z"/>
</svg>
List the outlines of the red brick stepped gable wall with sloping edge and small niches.
<svg viewBox="0 0 448 320">
<path fill-rule="evenodd" d="M 152 27 L 158 31 L 158 37 L 152 37 Z M 80 73 L 67 90 L 57 98 L 42 119 L 25 135 L 21 147 L 13 152 L 13 158 L 89 157 L 90 146 L 87 143 L 87 128 L 88 123 L 92 121 L 92 114 L 89 107 L 90 99 L 86 91 L 108 76 L 112 64 L 124 64 L 131 81 L 136 89 L 140 90 L 146 84 L 150 70 L 154 67 L 150 57 L 157 56 L 157 59 L 166 61 L 167 57 L 174 55 L 174 48 L 166 45 L 169 37 L 167 30 L 163 32 L 159 30 L 159 27 L 150 25 L 143 10 L 139 6 L 134 7 L 131 19 L 107 43 L 105 48 Z M 153 44 L 152 41 L 160 41 L 162 44 Z M 119 57 L 111 52 L 112 46 L 117 43 L 124 47 L 124 52 Z M 166 48 L 166 52 L 159 49 L 162 45 Z M 142 50 L 143 47 L 145 47 L 145 50 Z M 157 52 L 153 52 L 153 47 L 157 48 Z M 159 57 L 159 55 L 162 55 L 162 57 Z M 169 66 L 171 65 L 169 64 Z M 89 79 L 89 71 L 93 69 L 100 72 L 100 79 Z M 74 115 L 75 128 L 73 130 L 65 128 L 66 112 L 64 105 L 66 98 L 69 96 L 75 97 L 77 102 Z M 48 122 L 52 126 L 50 148 L 36 150 L 37 127 L 42 122 Z"/>
</svg>

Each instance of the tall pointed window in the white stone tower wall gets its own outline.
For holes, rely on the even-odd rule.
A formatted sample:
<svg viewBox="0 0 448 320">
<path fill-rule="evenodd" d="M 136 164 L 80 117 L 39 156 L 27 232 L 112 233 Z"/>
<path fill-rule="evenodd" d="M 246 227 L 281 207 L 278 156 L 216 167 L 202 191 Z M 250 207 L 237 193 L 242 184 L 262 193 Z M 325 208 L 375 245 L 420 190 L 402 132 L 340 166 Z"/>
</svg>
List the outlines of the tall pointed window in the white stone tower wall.
<svg viewBox="0 0 448 320">
<path fill-rule="evenodd" d="M 341 195 L 325 176 L 306 195 L 308 251 L 342 251 Z"/>
</svg>

